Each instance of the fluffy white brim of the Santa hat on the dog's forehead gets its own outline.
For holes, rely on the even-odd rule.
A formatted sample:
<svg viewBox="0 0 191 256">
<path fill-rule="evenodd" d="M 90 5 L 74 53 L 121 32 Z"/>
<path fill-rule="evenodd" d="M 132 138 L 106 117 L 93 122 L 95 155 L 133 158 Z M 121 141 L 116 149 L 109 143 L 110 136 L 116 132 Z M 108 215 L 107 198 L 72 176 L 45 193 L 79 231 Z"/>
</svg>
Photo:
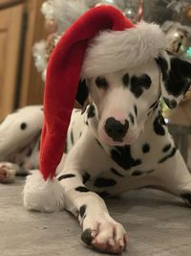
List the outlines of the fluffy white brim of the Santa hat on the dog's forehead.
<svg viewBox="0 0 191 256">
<path fill-rule="evenodd" d="M 92 78 L 138 67 L 158 57 L 165 47 L 165 35 L 156 24 L 140 22 L 136 28 L 100 33 L 87 49 L 81 76 Z"/>
</svg>

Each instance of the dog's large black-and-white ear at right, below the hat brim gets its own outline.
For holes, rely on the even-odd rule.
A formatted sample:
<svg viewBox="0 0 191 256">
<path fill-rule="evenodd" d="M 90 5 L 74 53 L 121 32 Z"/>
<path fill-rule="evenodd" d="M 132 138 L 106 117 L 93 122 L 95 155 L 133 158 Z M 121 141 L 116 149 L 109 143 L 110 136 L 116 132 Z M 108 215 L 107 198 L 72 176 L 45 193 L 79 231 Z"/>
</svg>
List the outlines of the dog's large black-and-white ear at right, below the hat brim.
<svg viewBox="0 0 191 256">
<path fill-rule="evenodd" d="M 161 71 L 161 95 L 168 107 L 175 108 L 191 85 L 191 63 L 167 51 L 156 60 Z"/>
</svg>

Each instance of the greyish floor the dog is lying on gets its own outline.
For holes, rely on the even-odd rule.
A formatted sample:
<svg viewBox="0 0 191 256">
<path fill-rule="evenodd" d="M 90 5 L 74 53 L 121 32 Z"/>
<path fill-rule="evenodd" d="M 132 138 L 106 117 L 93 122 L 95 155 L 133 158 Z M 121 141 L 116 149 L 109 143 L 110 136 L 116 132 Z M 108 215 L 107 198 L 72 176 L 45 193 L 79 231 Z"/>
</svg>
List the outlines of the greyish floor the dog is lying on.
<svg viewBox="0 0 191 256">
<path fill-rule="evenodd" d="M 28 212 L 22 205 L 24 178 L 0 184 L 1 256 L 92 256 L 81 229 L 67 212 Z M 138 190 L 107 200 L 112 216 L 129 235 L 128 256 L 190 256 L 191 209 L 179 198 Z"/>
</svg>

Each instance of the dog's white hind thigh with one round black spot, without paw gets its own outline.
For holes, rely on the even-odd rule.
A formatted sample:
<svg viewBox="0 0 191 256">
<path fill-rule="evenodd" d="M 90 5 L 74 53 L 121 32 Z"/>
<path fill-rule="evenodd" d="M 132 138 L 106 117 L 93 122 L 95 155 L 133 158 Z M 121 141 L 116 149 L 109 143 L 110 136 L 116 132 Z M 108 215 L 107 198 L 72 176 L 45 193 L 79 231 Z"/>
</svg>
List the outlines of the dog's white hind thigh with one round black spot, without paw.
<svg viewBox="0 0 191 256">
<path fill-rule="evenodd" d="M 26 106 L 9 114 L 0 123 L 0 161 L 10 161 L 12 154 L 31 144 L 40 132 L 42 123 L 40 105 Z"/>
</svg>

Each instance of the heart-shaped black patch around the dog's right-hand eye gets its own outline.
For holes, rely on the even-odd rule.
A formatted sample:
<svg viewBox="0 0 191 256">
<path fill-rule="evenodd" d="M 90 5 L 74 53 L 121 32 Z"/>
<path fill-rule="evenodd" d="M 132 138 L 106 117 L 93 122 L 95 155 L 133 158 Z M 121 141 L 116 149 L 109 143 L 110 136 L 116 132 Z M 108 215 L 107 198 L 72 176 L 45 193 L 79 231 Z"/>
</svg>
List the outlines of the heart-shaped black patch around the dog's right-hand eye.
<svg viewBox="0 0 191 256">
<path fill-rule="evenodd" d="M 151 78 L 146 74 L 140 77 L 133 76 L 131 78 L 131 92 L 136 98 L 139 98 L 144 89 L 148 90 L 150 88 L 151 83 Z"/>
</svg>

